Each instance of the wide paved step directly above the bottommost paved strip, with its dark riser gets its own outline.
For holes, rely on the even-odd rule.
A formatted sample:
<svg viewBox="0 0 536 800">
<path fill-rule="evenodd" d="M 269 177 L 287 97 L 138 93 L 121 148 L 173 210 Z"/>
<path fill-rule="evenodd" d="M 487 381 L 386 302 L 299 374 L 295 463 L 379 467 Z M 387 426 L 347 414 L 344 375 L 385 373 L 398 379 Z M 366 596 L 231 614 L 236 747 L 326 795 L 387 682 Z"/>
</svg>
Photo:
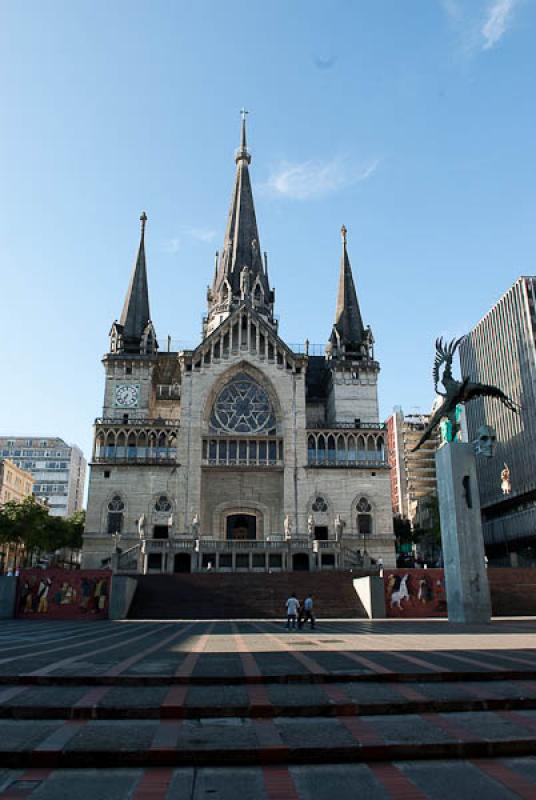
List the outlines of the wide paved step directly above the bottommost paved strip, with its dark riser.
<svg viewBox="0 0 536 800">
<path fill-rule="evenodd" d="M 3 720 L 4 767 L 246 766 L 532 755 L 536 711 L 197 720 Z"/>
</svg>

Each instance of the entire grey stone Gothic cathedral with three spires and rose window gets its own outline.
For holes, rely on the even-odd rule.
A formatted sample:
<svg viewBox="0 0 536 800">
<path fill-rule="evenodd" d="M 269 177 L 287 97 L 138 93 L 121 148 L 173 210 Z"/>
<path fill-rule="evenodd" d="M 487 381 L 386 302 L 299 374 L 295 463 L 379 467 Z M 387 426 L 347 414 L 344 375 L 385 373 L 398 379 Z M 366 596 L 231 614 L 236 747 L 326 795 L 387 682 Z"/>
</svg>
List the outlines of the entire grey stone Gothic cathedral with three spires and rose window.
<svg viewBox="0 0 536 800">
<path fill-rule="evenodd" d="M 394 566 L 374 340 L 342 229 L 324 355 L 279 336 L 242 121 L 223 250 L 195 350 L 159 349 L 146 216 L 104 356 L 83 567 L 140 572 Z M 335 290 L 335 287 L 334 287 Z M 334 292 L 335 293 L 335 292 Z"/>
</svg>

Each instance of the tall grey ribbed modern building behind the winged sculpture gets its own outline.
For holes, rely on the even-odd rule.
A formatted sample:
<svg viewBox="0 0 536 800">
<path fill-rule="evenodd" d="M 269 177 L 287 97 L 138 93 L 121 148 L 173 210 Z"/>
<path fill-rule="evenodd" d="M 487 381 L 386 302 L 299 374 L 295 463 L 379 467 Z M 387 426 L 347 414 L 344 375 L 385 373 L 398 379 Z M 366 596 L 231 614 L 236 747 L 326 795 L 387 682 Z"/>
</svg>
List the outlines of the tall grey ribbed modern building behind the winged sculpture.
<svg viewBox="0 0 536 800">
<path fill-rule="evenodd" d="M 478 458 L 484 540 L 490 560 L 536 566 L 536 277 L 521 277 L 460 346 L 462 374 L 498 386 L 519 414 L 492 398 L 466 407 L 469 441 L 481 425 L 497 431 L 493 458 Z M 510 493 L 501 472 L 510 471 Z"/>
</svg>

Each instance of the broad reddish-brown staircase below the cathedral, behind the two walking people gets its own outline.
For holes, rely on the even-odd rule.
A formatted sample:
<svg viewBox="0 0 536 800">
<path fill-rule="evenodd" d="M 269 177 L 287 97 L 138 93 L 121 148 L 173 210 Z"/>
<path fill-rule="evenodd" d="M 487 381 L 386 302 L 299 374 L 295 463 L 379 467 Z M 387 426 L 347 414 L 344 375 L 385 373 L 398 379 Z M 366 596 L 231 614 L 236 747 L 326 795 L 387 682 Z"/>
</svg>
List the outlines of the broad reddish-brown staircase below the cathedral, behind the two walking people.
<svg viewBox="0 0 536 800">
<path fill-rule="evenodd" d="M 139 575 L 130 619 L 281 619 L 292 592 L 323 618 L 365 617 L 353 579 L 366 570 Z"/>
</svg>

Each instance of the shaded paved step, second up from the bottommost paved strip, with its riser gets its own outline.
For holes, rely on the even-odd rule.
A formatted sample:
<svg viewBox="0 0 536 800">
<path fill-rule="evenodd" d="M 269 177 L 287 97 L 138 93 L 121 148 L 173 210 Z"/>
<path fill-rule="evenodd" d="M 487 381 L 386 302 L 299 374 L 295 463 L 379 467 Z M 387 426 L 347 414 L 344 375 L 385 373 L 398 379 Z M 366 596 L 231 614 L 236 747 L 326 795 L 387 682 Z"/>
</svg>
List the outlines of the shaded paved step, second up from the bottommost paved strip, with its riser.
<svg viewBox="0 0 536 800">
<path fill-rule="evenodd" d="M 536 709 L 529 681 L 5 686 L 0 719 L 341 717 Z"/>
</svg>

